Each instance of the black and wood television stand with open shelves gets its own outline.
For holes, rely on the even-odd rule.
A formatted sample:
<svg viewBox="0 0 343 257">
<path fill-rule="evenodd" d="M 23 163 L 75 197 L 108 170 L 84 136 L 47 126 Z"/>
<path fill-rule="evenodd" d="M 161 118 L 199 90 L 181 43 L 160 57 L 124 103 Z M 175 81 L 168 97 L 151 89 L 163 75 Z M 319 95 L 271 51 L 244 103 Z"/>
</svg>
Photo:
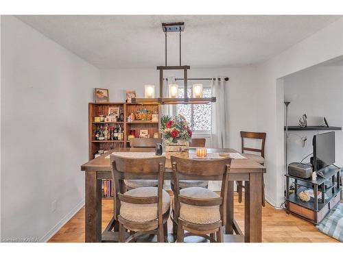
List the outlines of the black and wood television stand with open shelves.
<svg viewBox="0 0 343 257">
<path fill-rule="evenodd" d="M 323 177 L 318 176 L 316 180 L 285 174 L 287 213 L 318 224 L 340 202 L 340 168 L 331 165 L 321 171 Z M 292 194 L 289 192 L 289 180 L 294 180 L 295 189 Z M 314 191 L 314 197 L 309 201 L 303 201 L 298 193 L 307 189 Z"/>
</svg>

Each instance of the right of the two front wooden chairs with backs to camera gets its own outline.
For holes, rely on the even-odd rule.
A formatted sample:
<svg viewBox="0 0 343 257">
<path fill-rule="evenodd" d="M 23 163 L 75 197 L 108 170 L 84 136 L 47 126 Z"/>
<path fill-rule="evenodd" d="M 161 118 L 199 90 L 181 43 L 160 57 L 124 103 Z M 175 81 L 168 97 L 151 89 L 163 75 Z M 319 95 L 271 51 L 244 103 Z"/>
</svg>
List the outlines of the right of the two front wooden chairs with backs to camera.
<svg viewBox="0 0 343 257">
<path fill-rule="evenodd" d="M 228 172 L 230 158 L 188 159 L 171 156 L 174 180 L 174 207 L 171 214 L 173 231 L 177 232 L 177 242 L 183 242 L 186 236 L 198 235 L 210 242 L 223 242 L 223 227 L 226 225 L 226 199 L 228 194 Z M 220 195 L 213 191 L 190 187 L 180 189 L 179 182 L 193 175 L 222 178 Z M 188 232 L 185 234 L 185 230 Z"/>
</svg>

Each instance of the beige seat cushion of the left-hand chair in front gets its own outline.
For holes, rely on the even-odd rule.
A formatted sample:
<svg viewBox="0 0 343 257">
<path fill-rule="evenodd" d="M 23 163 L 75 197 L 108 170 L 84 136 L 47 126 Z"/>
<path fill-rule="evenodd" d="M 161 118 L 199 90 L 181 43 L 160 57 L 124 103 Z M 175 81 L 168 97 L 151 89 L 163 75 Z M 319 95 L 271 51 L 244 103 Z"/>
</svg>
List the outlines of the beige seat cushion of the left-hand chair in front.
<svg viewBox="0 0 343 257">
<path fill-rule="evenodd" d="M 157 187 L 145 186 L 134 188 L 127 191 L 124 195 L 135 197 L 157 196 Z M 162 191 L 162 210 L 163 214 L 170 208 L 170 196 L 167 191 Z M 157 204 L 129 204 L 121 201 L 119 214 L 123 219 L 135 222 L 146 222 L 157 219 Z"/>
</svg>

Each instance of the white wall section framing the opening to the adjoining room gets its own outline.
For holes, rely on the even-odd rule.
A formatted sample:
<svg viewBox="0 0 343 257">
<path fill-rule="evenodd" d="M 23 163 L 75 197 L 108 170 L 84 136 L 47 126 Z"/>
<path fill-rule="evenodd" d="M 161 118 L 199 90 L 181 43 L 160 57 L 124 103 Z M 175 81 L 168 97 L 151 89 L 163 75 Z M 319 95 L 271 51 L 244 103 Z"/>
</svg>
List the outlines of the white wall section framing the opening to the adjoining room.
<svg viewBox="0 0 343 257">
<path fill-rule="evenodd" d="M 343 54 L 343 19 L 331 23 L 278 56 L 259 64 L 256 77 L 257 130 L 267 132 L 265 145 L 265 195 L 281 206 L 284 192 L 283 82 L 285 75 Z"/>
</svg>

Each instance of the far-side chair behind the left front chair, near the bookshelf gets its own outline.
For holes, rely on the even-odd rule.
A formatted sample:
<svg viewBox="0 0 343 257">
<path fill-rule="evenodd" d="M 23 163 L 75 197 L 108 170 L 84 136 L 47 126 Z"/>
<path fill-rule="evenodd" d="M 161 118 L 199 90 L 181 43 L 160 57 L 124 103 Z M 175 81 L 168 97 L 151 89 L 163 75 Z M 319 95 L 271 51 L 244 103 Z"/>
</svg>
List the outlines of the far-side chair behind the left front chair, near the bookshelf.
<svg viewBox="0 0 343 257">
<path fill-rule="evenodd" d="M 156 147 L 161 138 L 130 138 L 130 147 Z M 157 186 L 157 180 L 124 180 L 126 190 L 143 186 Z"/>
</svg>

